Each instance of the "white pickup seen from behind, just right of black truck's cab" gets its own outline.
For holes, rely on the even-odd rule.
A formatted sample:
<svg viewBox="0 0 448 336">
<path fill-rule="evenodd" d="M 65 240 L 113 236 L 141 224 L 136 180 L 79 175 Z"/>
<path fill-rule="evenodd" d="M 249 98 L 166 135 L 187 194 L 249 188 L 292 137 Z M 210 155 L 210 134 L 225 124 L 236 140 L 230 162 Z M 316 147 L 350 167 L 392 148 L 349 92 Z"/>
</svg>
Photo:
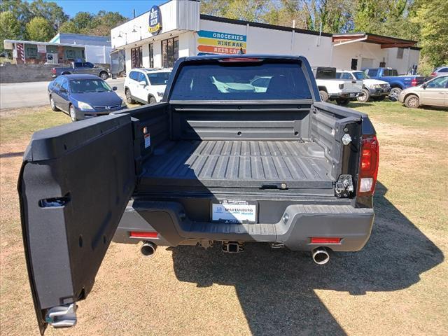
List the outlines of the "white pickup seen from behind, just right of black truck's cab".
<svg viewBox="0 0 448 336">
<path fill-rule="evenodd" d="M 363 80 L 337 79 L 336 68 L 332 67 L 312 69 L 322 102 L 335 100 L 336 104 L 344 106 L 363 94 Z"/>
</svg>

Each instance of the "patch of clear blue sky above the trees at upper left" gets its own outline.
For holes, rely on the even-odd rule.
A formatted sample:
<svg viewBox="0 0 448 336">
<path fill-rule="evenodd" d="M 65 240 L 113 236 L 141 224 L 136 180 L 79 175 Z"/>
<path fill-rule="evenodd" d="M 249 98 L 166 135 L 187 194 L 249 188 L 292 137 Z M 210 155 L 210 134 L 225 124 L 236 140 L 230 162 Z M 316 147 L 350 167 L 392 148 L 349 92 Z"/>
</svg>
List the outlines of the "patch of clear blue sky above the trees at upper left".
<svg viewBox="0 0 448 336">
<path fill-rule="evenodd" d="M 50 0 L 45 0 L 50 1 Z M 64 8 L 64 12 L 72 18 L 78 12 L 98 13 L 99 10 L 120 12 L 121 15 L 132 18 L 132 10 L 140 15 L 147 12 L 154 5 L 160 5 L 166 0 L 52 0 Z"/>
</svg>

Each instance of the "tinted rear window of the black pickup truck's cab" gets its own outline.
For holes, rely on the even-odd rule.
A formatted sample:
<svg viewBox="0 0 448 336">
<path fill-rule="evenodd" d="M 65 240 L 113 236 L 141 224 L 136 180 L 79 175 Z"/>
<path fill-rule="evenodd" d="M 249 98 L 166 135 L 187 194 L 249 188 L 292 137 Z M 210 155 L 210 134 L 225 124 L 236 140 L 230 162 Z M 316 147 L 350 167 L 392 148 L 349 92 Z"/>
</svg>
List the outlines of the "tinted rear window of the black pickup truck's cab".
<svg viewBox="0 0 448 336">
<path fill-rule="evenodd" d="M 183 66 L 171 99 L 311 99 L 311 92 L 300 62 L 222 62 Z"/>
</svg>

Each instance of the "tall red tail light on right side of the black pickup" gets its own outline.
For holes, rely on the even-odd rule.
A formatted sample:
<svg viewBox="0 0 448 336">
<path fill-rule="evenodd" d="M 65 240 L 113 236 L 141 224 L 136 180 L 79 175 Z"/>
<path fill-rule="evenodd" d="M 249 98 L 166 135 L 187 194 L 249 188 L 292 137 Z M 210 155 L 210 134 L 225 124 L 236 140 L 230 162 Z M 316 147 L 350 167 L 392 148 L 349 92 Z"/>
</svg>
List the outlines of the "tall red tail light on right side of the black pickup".
<svg viewBox="0 0 448 336">
<path fill-rule="evenodd" d="M 376 136 L 363 137 L 358 174 L 358 196 L 372 196 L 377 183 L 379 144 Z"/>
</svg>

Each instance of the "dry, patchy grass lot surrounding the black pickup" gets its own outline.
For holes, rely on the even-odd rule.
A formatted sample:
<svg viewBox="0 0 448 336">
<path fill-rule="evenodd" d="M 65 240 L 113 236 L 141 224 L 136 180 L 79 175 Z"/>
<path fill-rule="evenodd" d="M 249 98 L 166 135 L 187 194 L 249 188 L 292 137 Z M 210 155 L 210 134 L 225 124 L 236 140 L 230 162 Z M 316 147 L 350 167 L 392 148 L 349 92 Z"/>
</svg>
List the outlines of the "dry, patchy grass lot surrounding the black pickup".
<svg viewBox="0 0 448 336">
<path fill-rule="evenodd" d="M 49 328 L 47 335 L 253 335 L 248 325 L 270 328 L 283 321 L 321 328 L 331 328 L 333 321 L 339 333 L 328 335 L 448 335 L 448 269 L 442 262 L 448 253 L 448 111 L 392 102 L 348 107 L 370 116 L 380 144 L 376 218 L 363 251 L 335 255 L 330 265 L 316 268 L 304 253 L 272 255 L 262 247 L 252 255 L 248 248 L 248 258 L 161 246 L 148 261 L 138 246 L 112 244 L 89 300 L 80 302 L 80 323 L 68 332 Z M 48 107 L 1 111 L 0 335 L 38 335 L 22 247 L 18 173 L 33 132 L 70 122 Z M 176 267 L 180 277 L 194 274 L 207 286 L 178 279 Z"/>
</svg>

